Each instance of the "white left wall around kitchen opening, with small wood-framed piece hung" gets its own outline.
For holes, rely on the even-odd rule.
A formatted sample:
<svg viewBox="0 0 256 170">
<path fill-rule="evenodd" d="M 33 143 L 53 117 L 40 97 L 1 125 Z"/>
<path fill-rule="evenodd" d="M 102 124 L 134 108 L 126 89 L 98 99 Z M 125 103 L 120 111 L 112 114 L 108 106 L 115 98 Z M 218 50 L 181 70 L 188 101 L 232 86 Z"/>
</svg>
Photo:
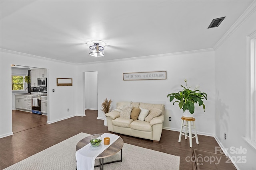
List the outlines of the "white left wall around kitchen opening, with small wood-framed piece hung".
<svg viewBox="0 0 256 170">
<path fill-rule="evenodd" d="M 66 63 L 45 60 L 44 58 L 10 53 L 1 50 L 0 53 L 0 137 L 12 135 L 12 88 L 6 83 L 11 83 L 11 64 L 46 68 L 48 77 L 48 123 L 66 119 L 74 115 L 84 115 L 84 111 L 76 113 L 75 89 L 76 66 Z M 56 78 L 73 78 L 73 86 L 56 86 Z M 55 89 L 55 92 L 52 92 Z M 70 111 L 67 111 L 67 109 Z"/>
</svg>

